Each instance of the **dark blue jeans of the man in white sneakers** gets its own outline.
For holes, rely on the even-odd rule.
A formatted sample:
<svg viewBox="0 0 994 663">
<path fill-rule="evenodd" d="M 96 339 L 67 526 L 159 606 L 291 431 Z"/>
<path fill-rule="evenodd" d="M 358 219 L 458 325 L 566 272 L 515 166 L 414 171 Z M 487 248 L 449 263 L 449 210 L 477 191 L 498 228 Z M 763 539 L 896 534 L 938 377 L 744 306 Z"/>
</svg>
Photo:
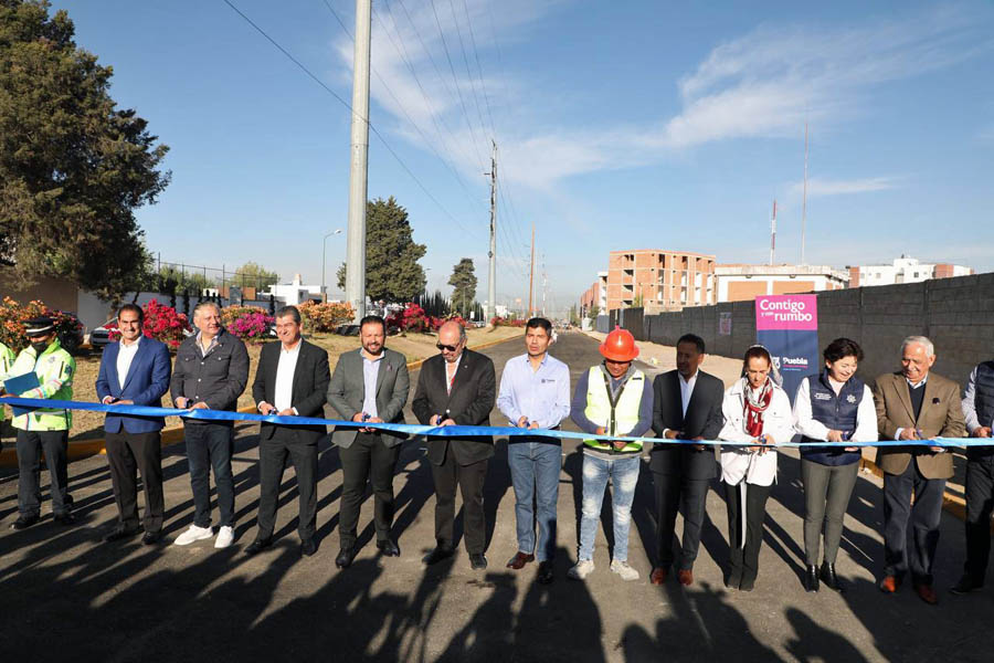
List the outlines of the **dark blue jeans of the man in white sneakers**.
<svg viewBox="0 0 994 663">
<path fill-rule="evenodd" d="M 190 486 L 193 488 L 193 524 L 211 526 L 211 467 L 218 486 L 218 509 L 221 527 L 234 523 L 234 480 L 231 456 L 234 453 L 234 431 L 223 423 L 191 423 L 183 427 L 187 460 L 190 463 Z"/>
</svg>

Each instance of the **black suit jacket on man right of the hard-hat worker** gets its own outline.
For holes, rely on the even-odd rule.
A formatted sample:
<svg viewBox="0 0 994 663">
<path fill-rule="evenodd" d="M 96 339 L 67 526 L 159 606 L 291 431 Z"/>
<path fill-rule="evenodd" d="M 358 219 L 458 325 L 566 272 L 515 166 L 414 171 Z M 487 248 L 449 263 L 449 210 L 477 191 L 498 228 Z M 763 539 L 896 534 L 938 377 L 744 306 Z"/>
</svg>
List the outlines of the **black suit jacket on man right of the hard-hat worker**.
<svg viewBox="0 0 994 663">
<path fill-rule="evenodd" d="M 670 370 L 656 376 L 653 382 L 653 430 L 662 438 L 663 431 L 680 431 L 684 438 L 717 440 L 725 424 L 721 403 L 725 385 L 712 375 L 697 371 L 697 381 L 687 404 L 680 399 L 679 371 Z M 705 446 L 702 451 L 689 444 L 653 444 L 649 453 L 649 469 L 657 474 L 679 474 L 687 478 L 713 478 L 718 475 L 718 445 Z"/>
</svg>

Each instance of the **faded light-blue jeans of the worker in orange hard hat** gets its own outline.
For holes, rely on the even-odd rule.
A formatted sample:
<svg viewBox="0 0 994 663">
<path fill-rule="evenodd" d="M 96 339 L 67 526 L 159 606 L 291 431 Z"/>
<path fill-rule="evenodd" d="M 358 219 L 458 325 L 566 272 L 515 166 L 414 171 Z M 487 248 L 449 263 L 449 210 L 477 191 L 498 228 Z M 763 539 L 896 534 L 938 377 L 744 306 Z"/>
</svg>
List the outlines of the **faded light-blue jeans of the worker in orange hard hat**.
<svg viewBox="0 0 994 663">
<path fill-rule="evenodd" d="M 593 559 L 593 541 L 607 480 L 614 485 L 614 559 L 628 559 L 628 527 L 632 524 L 632 501 L 638 483 L 641 454 L 620 456 L 610 461 L 583 454 L 583 506 L 580 517 L 580 560 Z"/>
</svg>

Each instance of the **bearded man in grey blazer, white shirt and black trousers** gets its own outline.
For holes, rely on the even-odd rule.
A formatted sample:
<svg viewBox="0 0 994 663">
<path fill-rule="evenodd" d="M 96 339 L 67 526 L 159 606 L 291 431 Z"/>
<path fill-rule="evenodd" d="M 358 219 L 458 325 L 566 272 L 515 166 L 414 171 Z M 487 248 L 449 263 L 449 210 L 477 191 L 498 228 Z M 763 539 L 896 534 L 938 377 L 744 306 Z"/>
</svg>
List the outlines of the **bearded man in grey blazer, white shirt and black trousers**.
<svg viewBox="0 0 994 663">
<path fill-rule="evenodd" d="M 388 350 L 387 323 L 368 315 L 359 323 L 362 347 L 342 352 L 328 387 L 328 403 L 346 420 L 370 423 L 403 423 L 404 404 L 411 387 L 408 360 Z M 400 555 L 390 536 L 393 525 L 393 472 L 405 435 L 378 429 L 336 428 L 331 441 L 341 457 L 341 511 L 338 532 L 341 550 L 335 559 L 338 568 L 352 564 L 359 507 L 366 497 L 366 485 L 372 484 L 376 507 L 377 548 L 387 557 Z"/>
</svg>

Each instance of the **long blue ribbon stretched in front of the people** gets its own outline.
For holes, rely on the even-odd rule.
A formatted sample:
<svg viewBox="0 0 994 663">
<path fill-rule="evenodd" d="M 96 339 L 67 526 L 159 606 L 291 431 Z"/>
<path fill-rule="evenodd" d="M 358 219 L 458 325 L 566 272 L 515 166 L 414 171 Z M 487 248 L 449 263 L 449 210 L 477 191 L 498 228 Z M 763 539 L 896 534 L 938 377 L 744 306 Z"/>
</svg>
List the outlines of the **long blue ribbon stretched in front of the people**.
<svg viewBox="0 0 994 663">
<path fill-rule="evenodd" d="M 317 417 L 282 417 L 279 414 L 257 414 L 255 412 L 230 412 L 228 410 L 176 408 L 152 408 L 149 406 L 119 406 L 87 403 L 82 401 L 62 401 L 36 398 L 2 397 L 0 403 L 17 406 L 28 410 L 89 410 L 109 412 L 131 417 L 180 417 L 198 421 L 260 421 L 284 425 L 334 425 L 347 429 L 377 429 L 404 433 L 408 435 L 425 435 L 427 438 L 469 438 L 469 436 L 506 436 L 506 438 L 558 438 L 571 440 L 611 440 L 623 442 L 642 442 L 645 444 L 721 444 L 725 446 L 755 446 L 753 442 L 730 442 L 728 440 L 667 440 L 665 438 L 623 438 L 612 435 L 593 435 L 573 431 L 552 431 L 549 429 L 520 429 L 496 425 L 420 425 L 412 423 L 370 423 L 368 421 L 341 421 L 338 419 L 319 419 Z M 994 440 L 983 438 L 934 438 L 932 440 L 879 440 L 875 442 L 776 442 L 769 446 L 991 446 Z"/>
</svg>

